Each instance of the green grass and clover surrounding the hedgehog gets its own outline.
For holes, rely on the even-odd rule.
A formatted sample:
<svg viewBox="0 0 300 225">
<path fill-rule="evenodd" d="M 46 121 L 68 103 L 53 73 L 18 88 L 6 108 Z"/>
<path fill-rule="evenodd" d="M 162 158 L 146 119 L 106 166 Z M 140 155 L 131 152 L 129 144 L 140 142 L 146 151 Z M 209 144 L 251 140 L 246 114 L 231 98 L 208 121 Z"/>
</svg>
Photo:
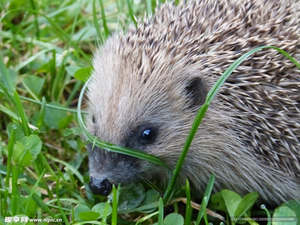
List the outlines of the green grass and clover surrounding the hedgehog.
<svg viewBox="0 0 300 225">
<path fill-rule="evenodd" d="M 155 156 L 95 140 L 85 130 L 81 114 L 77 115 L 95 43 L 104 43 L 111 32 L 126 33 L 136 23 L 135 17 L 154 10 L 156 1 L 142 2 L 0 0 L 0 224 L 5 224 L 5 217 L 16 215 L 61 220 L 26 224 L 220 223 L 207 215 L 209 207 L 232 224 L 229 216 L 250 216 L 255 192 L 242 198 L 222 190 L 211 196 L 213 174 L 202 207 L 192 210 L 188 181 L 179 190 L 175 182 L 211 99 L 226 77 L 259 49 L 235 61 L 209 92 L 166 190 L 134 184 L 113 187 L 110 196 L 102 197 L 88 189 L 88 154 L 79 136 L 82 133 L 104 149 L 165 166 Z M 234 203 L 228 205 L 232 196 Z M 186 199 L 186 204 L 179 203 L 180 199 Z M 174 208 L 173 213 L 170 209 L 164 212 L 167 205 Z M 286 208 L 277 210 L 289 213 Z"/>
</svg>

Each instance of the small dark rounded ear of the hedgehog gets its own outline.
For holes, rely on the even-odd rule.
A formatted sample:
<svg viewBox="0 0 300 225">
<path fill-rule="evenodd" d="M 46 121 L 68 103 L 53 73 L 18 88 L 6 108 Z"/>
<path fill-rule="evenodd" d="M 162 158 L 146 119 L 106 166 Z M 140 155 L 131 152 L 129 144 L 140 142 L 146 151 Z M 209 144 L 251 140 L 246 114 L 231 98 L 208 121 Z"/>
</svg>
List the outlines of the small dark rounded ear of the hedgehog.
<svg viewBox="0 0 300 225">
<path fill-rule="evenodd" d="M 191 107 L 199 107 L 205 103 L 207 95 L 207 84 L 201 77 L 193 77 L 185 86 L 187 98 L 190 100 Z"/>
</svg>

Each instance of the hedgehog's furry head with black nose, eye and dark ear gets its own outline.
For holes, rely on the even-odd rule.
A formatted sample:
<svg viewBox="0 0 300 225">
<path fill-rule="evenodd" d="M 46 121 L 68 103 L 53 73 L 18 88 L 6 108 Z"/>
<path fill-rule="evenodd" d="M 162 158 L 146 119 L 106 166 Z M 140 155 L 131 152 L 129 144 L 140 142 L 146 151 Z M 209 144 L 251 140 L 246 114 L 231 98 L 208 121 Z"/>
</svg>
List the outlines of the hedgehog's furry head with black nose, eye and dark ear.
<svg viewBox="0 0 300 225">
<path fill-rule="evenodd" d="M 158 156 L 174 168 L 207 83 L 190 61 L 173 60 L 176 51 L 151 49 L 115 37 L 95 54 L 86 120 L 100 140 Z M 119 182 L 167 174 L 148 161 L 88 148 L 95 194 L 107 195 Z"/>
</svg>

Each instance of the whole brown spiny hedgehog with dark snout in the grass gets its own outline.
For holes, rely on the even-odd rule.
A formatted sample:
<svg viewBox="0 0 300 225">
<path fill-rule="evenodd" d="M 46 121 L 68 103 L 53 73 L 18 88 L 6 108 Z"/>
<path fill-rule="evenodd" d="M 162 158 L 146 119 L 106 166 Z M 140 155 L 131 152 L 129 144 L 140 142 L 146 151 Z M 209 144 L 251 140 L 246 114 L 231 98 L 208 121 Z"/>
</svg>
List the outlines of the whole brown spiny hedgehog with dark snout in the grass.
<svg viewBox="0 0 300 225">
<path fill-rule="evenodd" d="M 212 85 L 238 57 L 265 45 L 300 60 L 299 1 L 167 1 L 94 53 L 88 130 L 173 170 Z M 267 204 L 300 199 L 299 103 L 295 64 L 271 48 L 251 55 L 210 104 L 178 185 L 188 179 L 199 196 L 215 173 L 214 191 L 258 191 Z M 109 194 L 112 184 L 169 179 L 149 161 L 88 149 L 94 194 Z"/>
</svg>

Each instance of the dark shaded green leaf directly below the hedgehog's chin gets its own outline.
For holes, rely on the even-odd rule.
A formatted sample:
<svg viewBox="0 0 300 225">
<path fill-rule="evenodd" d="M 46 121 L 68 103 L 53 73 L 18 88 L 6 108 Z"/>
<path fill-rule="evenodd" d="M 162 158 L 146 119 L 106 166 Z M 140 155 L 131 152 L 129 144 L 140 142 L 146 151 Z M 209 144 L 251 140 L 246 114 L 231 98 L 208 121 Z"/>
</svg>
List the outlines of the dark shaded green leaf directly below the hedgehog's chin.
<svg viewBox="0 0 300 225">
<path fill-rule="evenodd" d="M 131 183 L 123 186 L 119 194 L 118 211 L 139 206 L 145 196 L 145 189 L 142 184 Z"/>
</svg>

